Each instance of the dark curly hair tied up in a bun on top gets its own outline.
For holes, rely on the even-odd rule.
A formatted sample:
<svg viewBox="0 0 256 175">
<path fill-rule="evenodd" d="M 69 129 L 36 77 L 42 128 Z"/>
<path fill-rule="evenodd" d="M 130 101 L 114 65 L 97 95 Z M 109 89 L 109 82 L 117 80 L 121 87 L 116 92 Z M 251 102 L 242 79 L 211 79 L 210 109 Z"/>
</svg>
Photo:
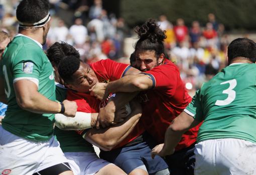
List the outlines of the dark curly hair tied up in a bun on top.
<svg viewBox="0 0 256 175">
<path fill-rule="evenodd" d="M 135 27 L 134 31 L 138 34 L 139 40 L 135 45 L 135 50 L 151 50 L 156 52 L 159 57 L 165 53 L 164 39 L 165 31 L 162 31 L 156 21 L 149 19 L 142 26 Z"/>
</svg>

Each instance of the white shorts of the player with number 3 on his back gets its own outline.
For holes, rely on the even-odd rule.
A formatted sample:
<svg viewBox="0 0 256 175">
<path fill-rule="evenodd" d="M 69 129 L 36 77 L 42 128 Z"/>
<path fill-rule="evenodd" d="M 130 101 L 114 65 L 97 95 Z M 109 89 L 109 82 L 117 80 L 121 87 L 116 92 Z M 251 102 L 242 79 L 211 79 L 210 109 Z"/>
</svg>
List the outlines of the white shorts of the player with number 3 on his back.
<svg viewBox="0 0 256 175">
<path fill-rule="evenodd" d="M 256 174 L 256 144 L 223 138 L 195 145 L 195 175 Z"/>
</svg>

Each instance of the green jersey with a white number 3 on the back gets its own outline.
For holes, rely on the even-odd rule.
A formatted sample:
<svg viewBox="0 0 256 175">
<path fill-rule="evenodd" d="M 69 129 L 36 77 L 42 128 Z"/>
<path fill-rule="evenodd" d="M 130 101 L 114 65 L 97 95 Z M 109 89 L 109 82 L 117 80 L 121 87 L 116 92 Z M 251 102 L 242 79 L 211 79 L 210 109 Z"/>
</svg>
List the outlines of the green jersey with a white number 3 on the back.
<svg viewBox="0 0 256 175">
<path fill-rule="evenodd" d="M 184 110 L 203 121 L 197 141 L 238 138 L 256 142 L 256 64 L 231 64 L 203 84 Z"/>
</svg>

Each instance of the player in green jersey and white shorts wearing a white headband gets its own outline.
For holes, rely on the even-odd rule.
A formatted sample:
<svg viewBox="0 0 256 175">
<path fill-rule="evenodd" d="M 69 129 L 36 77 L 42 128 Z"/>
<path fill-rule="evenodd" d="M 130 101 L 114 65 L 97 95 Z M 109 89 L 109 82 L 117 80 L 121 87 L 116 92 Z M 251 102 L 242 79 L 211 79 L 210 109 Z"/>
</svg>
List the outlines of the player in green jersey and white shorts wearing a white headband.
<svg viewBox="0 0 256 175">
<path fill-rule="evenodd" d="M 19 34 L 0 63 L 2 174 L 73 174 L 53 137 L 54 113 L 74 116 L 76 103 L 56 102 L 53 68 L 42 50 L 50 27 L 45 0 L 23 0 L 17 11 Z M 4 97 L 5 94 L 5 97 Z"/>
</svg>

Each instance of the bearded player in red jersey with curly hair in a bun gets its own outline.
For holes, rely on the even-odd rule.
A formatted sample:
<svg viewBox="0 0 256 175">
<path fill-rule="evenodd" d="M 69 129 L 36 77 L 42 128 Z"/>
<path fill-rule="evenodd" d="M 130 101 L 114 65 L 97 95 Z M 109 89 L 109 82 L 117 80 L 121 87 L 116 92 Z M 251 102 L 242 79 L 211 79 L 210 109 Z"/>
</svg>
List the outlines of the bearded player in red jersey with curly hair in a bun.
<svg viewBox="0 0 256 175">
<path fill-rule="evenodd" d="M 165 58 L 163 41 L 166 35 L 156 22 L 148 20 L 135 31 L 139 36 L 135 46 L 136 67 L 142 73 L 125 76 L 107 84 L 97 83 L 91 91 L 98 98 L 105 98 L 110 92 L 141 91 L 143 126 L 159 144 L 164 142 L 166 129 L 188 105 L 191 97 L 184 87 L 177 66 Z M 126 99 L 122 101 L 126 102 Z M 111 105 L 118 103 L 119 101 L 107 104 L 105 108 L 112 108 Z M 104 112 L 106 111 L 109 110 Z M 99 119 L 101 120 L 104 121 Z M 165 157 L 171 174 L 193 174 L 193 151 L 198 128 L 199 126 L 185 132 L 175 148 L 175 153 Z"/>
</svg>

